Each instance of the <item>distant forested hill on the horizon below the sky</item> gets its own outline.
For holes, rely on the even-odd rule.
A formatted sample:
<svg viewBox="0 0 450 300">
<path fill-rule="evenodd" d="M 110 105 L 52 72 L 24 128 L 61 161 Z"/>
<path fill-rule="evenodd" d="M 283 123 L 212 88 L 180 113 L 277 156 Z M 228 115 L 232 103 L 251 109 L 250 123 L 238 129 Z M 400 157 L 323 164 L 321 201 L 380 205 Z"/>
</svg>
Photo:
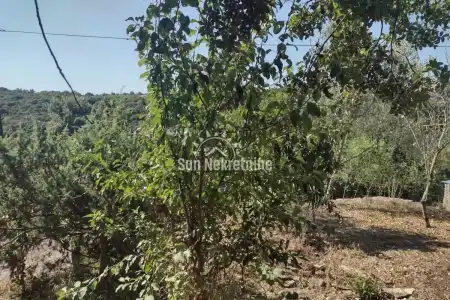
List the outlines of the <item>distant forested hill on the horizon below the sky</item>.
<svg viewBox="0 0 450 300">
<path fill-rule="evenodd" d="M 126 102 L 126 108 L 131 118 L 131 121 L 137 121 L 138 114 L 145 111 L 145 95 L 138 93 L 130 94 L 102 94 L 94 95 L 91 93 L 77 94 L 80 102 L 82 102 L 83 114 L 89 114 L 96 108 L 101 108 L 105 101 L 117 101 L 118 103 Z M 51 119 L 51 105 L 57 99 L 65 101 L 67 99 L 68 109 L 76 110 L 79 107 L 75 105 L 73 97 L 70 92 L 55 92 L 44 91 L 35 92 L 33 90 L 9 90 L 0 87 L 0 114 L 3 117 L 3 130 L 5 133 L 12 133 L 16 131 L 20 125 L 24 127 L 31 126 L 34 120 L 38 122 L 47 122 Z M 54 104 L 53 104 L 54 105 Z M 78 112 L 80 114 L 80 112 Z"/>
</svg>

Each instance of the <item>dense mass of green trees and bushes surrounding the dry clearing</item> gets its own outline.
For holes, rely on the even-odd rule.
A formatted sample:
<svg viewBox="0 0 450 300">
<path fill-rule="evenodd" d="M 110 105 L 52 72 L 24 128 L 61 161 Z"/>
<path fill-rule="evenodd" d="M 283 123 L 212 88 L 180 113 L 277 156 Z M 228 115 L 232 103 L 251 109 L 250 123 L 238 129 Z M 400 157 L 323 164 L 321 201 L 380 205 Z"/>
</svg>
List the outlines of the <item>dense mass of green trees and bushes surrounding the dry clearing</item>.
<svg viewBox="0 0 450 300">
<path fill-rule="evenodd" d="M 429 225 L 448 124 L 425 113 L 436 95 L 449 98 L 450 73 L 411 53 L 448 38 L 447 2 L 170 0 L 127 21 L 149 83 L 142 120 L 140 95 L 85 95 L 78 106 L 64 93 L 2 90 L 0 258 L 14 299 L 26 297 L 25 258 L 43 241 L 70 263 L 60 299 L 222 299 L 239 280 L 231 297 L 241 299 L 256 292 L 245 278 L 287 284 L 301 254 L 273 233 L 314 228 L 305 205 L 419 195 Z M 294 64 L 289 43 L 317 32 Z M 275 53 L 264 47 L 271 35 Z M 40 122 L 20 129 L 29 115 Z M 424 151 L 423 136 L 436 147 Z M 211 152 L 198 147 L 210 137 L 273 168 L 208 171 Z M 180 168 L 186 160 L 199 170 Z"/>
</svg>

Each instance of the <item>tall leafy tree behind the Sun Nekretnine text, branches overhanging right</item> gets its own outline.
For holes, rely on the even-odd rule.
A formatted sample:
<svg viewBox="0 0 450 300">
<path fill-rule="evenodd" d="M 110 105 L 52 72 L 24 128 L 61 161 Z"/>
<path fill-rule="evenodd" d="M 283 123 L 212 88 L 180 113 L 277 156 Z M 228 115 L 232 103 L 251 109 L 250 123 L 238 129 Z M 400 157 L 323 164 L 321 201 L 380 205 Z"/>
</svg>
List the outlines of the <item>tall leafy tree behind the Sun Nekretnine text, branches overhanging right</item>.
<svg viewBox="0 0 450 300">
<path fill-rule="evenodd" d="M 102 193 L 114 195 L 89 216 L 93 224 L 101 220 L 95 228 L 103 242 L 130 221 L 140 226 L 139 243 L 68 294 L 83 297 L 99 280 L 117 276 L 117 291 L 144 299 L 211 299 L 221 271 L 236 264 L 269 283 L 280 281 L 277 263 L 290 263 L 292 255 L 267 233 L 299 227 L 293 209 L 323 196 L 331 171 L 329 134 L 314 126 L 321 95 L 333 97 L 332 87 L 373 93 L 396 110 L 426 100 L 431 78 L 395 72 L 409 66 L 394 52 L 401 40 L 416 48 L 443 41 L 446 3 L 295 0 L 289 19 L 279 20 L 276 10 L 286 3 L 156 1 L 145 16 L 129 18 L 127 32 L 147 68 L 142 77 L 150 94 L 148 118 L 136 136 L 138 158 L 105 167 L 108 151 L 127 154 L 99 146 L 85 172 Z M 294 66 L 287 41 L 311 38 L 329 23 L 328 37 Z M 373 38 L 375 23 L 389 24 L 389 33 Z M 272 34 L 280 43 L 270 59 L 264 42 Z M 448 80 L 448 68 L 431 67 Z M 285 96 L 265 98 L 269 81 Z M 207 153 L 196 144 L 210 137 L 227 140 L 239 158 L 271 160 L 274 168 L 207 172 Z M 198 170 L 182 167 L 191 160 L 199 161 Z M 130 203 L 139 202 L 131 212 Z M 152 213 L 140 214 L 144 206 Z M 128 218 L 117 217 L 125 211 Z"/>
</svg>

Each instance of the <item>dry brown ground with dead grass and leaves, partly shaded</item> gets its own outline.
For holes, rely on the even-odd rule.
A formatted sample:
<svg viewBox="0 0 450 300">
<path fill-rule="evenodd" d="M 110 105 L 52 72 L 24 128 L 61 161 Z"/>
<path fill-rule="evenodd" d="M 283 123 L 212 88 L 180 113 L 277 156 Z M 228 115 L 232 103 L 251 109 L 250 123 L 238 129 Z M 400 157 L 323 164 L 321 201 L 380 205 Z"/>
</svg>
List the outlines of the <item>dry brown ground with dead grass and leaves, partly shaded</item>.
<svg viewBox="0 0 450 300">
<path fill-rule="evenodd" d="M 335 203 L 342 219 L 318 212 L 322 234 L 306 240 L 280 236 L 305 256 L 299 268 L 288 272 L 291 285 L 283 291 L 295 291 L 300 299 L 358 299 L 352 280 L 369 277 L 381 287 L 414 288 L 409 299 L 450 300 L 450 212 L 430 208 L 433 228 L 426 229 L 419 203 L 383 197 Z M 7 283 L 0 267 L 0 300 L 9 299 Z M 258 289 L 265 299 L 281 291 L 261 284 Z M 226 299 L 244 299 L 233 294 Z"/>
</svg>

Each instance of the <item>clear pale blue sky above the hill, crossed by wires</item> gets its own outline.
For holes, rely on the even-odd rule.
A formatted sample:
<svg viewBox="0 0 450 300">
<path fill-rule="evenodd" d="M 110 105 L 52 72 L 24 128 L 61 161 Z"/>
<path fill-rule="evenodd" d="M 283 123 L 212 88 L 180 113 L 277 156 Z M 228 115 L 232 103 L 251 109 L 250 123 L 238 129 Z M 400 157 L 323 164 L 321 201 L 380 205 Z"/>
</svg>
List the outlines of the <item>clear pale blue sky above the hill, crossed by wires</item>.
<svg viewBox="0 0 450 300">
<path fill-rule="evenodd" d="M 126 37 L 127 19 L 146 11 L 149 0 L 40 0 L 44 29 L 49 33 Z M 287 9 L 280 12 L 287 17 Z M 0 0 L 0 29 L 39 32 L 33 0 Z M 374 29 L 376 30 L 376 28 Z M 139 76 L 135 43 L 127 40 L 47 36 L 59 64 L 80 93 L 143 92 L 147 84 Z M 277 44 L 276 40 L 268 43 Z M 303 44 L 314 43 L 303 41 Z M 0 32 L 0 87 L 64 91 L 60 76 L 40 35 Z M 446 61 L 445 50 L 425 49 L 422 59 L 436 56 Z M 276 46 L 274 47 L 274 50 Z M 294 62 L 302 59 L 308 47 L 290 48 Z"/>
</svg>

